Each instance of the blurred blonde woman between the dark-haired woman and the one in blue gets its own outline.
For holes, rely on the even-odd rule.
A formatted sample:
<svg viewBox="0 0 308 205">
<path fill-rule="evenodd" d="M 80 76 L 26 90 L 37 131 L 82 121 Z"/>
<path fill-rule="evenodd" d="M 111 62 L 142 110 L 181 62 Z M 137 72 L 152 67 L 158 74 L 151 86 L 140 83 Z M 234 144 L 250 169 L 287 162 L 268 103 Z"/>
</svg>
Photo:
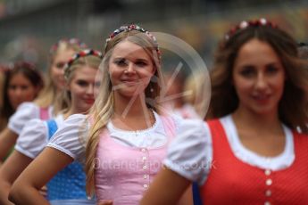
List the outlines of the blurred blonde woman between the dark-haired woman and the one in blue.
<svg viewBox="0 0 308 205">
<path fill-rule="evenodd" d="M 64 86 L 63 65 L 74 53 L 80 51 L 80 46 L 83 44 L 76 38 L 61 40 L 52 46 L 46 87 L 35 102 L 24 102 L 19 106 L 0 134 L 0 165 L 30 119 L 50 119 L 59 111 L 56 95 L 61 93 Z"/>
</svg>

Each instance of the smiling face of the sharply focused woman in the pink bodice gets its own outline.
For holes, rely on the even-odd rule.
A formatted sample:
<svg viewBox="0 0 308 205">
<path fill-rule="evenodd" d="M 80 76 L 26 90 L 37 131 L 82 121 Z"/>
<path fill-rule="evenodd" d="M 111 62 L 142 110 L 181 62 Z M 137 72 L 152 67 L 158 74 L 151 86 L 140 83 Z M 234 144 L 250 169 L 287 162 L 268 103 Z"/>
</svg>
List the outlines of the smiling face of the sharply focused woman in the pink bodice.
<svg viewBox="0 0 308 205">
<path fill-rule="evenodd" d="M 154 71 L 153 61 L 141 46 L 124 40 L 114 47 L 109 73 L 115 96 L 144 93 Z"/>
</svg>

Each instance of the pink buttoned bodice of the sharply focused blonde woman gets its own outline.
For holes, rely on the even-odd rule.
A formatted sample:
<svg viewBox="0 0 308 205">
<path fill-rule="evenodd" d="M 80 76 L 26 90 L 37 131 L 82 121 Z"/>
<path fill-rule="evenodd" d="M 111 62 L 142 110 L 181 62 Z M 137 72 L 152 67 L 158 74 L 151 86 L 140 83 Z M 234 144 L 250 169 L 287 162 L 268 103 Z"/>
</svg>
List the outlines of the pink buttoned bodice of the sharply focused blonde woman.
<svg viewBox="0 0 308 205">
<path fill-rule="evenodd" d="M 161 117 L 168 143 L 175 135 L 173 119 Z M 168 143 L 157 148 L 122 145 L 107 130 L 100 135 L 96 152 L 96 196 L 98 201 L 138 204 L 154 176 L 162 168 Z"/>
</svg>

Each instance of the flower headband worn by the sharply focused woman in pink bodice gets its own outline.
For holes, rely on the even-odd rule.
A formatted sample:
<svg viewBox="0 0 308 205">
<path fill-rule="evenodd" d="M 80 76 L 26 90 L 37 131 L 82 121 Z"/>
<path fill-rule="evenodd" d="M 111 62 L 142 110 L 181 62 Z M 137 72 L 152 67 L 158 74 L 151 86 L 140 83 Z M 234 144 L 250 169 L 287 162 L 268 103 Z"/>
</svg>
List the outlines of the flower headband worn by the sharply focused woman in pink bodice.
<svg viewBox="0 0 308 205">
<path fill-rule="evenodd" d="M 123 31 L 130 31 L 130 30 L 137 30 L 139 32 L 145 33 L 146 36 L 149 37 L 154 42 L 154 46 L 155 46 L 155 50 L 156 50 L 156 52 L 158 54 L 158 58 L 159 58 L 159 60 L 161 60 L 161 51 L 159 49 L 156 37 L 154 37 L 146 29 L 143 29 L 143 28 L 139 27 L 137 24 L 130 24 L 129 26 L 121 26 L 119 29 L 115 29 L 112 32 L 112 34 L 106 39 L 104 50 L 107 47 L 108 42 L 111 41 L 113 37 L 117 36 L 118 34 L 120 34 Z"/>
</svg>

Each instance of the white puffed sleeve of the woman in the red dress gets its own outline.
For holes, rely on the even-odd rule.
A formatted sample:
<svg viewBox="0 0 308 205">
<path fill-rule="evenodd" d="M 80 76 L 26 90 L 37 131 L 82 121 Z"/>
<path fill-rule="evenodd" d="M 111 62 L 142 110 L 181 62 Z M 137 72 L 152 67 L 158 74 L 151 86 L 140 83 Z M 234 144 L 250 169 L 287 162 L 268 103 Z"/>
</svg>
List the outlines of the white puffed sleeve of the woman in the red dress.
<svg viewBox="0 0 308 205">
<path fill-rule="evenodd" d="M 199 119 L 183 119 L 163 164 L 190 181 L 204 184 L 212 162 L 209 127 Z"/>
</svg>

